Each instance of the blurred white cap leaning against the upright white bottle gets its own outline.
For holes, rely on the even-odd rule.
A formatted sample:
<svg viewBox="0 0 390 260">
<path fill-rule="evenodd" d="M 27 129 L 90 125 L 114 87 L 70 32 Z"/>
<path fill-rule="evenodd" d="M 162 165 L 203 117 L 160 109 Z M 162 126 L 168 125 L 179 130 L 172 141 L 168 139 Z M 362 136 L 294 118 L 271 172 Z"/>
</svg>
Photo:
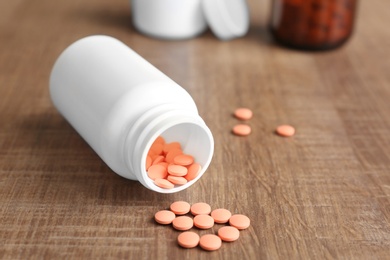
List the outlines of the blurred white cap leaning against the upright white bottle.
<svg viewBox="0 0 390 260">
<path fill-rule="evenodd" d="M 231 40 L 248 32 L 246 0 L 202 0 L 202 7 L 208 25 L 219 39 Z"/>
</svg>

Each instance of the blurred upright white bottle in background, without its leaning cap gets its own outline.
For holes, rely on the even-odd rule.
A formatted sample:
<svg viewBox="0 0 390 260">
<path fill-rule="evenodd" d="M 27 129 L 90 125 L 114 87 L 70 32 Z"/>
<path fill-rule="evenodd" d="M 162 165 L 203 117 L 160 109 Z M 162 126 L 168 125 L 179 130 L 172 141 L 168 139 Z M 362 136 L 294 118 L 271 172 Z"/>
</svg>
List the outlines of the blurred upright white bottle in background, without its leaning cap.
<svg viewBox="0 0 390 260">
<path fill-rule="evenodd" d="M 201 0 L 131 0 L 133 24 L 157 38 L 180 40 L 207 29 Z"/>
</svg>

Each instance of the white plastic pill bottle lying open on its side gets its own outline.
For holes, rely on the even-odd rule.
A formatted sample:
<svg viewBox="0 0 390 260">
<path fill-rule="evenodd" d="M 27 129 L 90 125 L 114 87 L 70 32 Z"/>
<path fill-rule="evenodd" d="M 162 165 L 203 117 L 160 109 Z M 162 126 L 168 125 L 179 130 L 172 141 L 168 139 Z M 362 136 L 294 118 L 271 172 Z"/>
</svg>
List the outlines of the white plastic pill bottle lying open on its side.
<svg viewBox="0 0 390 260">
<path fill-rule="evenodd" d="M 172 193 L 197 181 L 211 162 L 214 140 L 182 87 L 109 36 L 89 36 L 69 46 L 50 76 L 54 105 L 117 174 L 145 187 Z M 173 189 L 147 176 L 146 155 L 163 136 L 178 141 L 202 171 Z"/>
</svg>

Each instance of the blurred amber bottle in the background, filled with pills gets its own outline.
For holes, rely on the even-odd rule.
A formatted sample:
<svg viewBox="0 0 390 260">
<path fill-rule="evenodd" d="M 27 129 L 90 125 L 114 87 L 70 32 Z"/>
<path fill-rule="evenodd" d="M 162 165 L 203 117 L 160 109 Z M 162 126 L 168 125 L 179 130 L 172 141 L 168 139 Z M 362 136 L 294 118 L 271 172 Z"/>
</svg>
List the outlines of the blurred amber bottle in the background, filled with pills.
<svg viewBox="0 0 390 260">
<path fill-rule="evenodd" d="M 273 0 L 271 31 L 281 44 L 326 50 L 352 34 L 358 0 Z"/>
</svg>

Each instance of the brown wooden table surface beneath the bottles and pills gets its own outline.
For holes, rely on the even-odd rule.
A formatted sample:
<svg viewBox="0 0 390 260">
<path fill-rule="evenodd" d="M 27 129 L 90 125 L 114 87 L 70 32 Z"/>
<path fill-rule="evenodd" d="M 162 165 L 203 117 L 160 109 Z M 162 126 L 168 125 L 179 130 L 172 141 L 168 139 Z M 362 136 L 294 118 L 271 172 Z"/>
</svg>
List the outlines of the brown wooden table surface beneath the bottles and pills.
<svg viewBox="0 0 390 260">
<path fill-rule="evenodd" d="M 390 2 L 360 1 L 353 38 L 328 52 L 274 44 L 270 1 L 221 42 L 138 33 L 128 1 L 0 2 L 0 257 L 4 259 L 389 259 Z M 215 138 L 189 189 L 158 194 L 112 172 L 51 103 L 53 63 L 106 34 L 187 89 Z M 252 108 L 236 137 L 232 111 Z M 274 134 L 291 124 L 292 138 Z M 154 213 L 176 200 L 251 219 L 220 250 L 182 249 Z M 216 232 L 199 231 L 199 234 Z"/>
</svg>

